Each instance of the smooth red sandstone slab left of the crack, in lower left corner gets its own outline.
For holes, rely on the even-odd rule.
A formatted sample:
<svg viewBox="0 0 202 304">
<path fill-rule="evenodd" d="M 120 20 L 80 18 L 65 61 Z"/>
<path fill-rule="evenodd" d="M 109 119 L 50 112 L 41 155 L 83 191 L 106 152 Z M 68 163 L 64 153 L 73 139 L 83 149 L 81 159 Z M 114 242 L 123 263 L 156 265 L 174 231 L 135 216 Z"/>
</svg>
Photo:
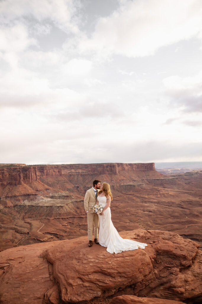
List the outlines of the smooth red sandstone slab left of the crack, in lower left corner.
<svg viewBox="0 0 202 304">
<path fill-rule="evenodd" d="M 52 266 L 41 257 L 44 247 L 52 244 L 23 246 L 0 253 L 2 304 L 41 304 L 45 291 L 55 284 L 51 280 Z"/>
</svg>

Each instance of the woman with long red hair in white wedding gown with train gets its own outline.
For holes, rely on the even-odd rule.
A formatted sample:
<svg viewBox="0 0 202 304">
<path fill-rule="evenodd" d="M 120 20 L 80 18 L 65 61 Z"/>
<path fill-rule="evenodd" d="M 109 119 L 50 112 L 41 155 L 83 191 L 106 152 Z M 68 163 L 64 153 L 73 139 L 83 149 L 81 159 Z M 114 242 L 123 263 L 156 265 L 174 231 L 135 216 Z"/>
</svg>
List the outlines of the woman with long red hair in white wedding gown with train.
<svg viewBox="0 0 202 304">
<path fill-rule="evenodd" d="M 133 240 L 122 239 L 118 231 L 111 221 L 110 203 L 112 201 L 112 194 L 110 185 L 103 183 L 100 186 L 97 201 L 102 205 L 103 210 L 99 216 L 99 243 L 101 246 L 107 247 L 109 253 L 119 253 L 127 250 L 134 250 L 138 248 L 144 249 L 147 244 L 139 243 Z"/>
</svg>

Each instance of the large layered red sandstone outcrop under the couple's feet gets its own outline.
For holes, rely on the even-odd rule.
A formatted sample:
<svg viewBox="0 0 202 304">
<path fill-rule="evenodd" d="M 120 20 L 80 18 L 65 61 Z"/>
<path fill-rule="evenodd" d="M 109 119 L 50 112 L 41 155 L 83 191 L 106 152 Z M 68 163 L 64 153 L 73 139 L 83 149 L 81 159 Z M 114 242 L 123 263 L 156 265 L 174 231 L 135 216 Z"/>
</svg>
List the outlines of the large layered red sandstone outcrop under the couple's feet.
<svg viewBox="0 0 202 304">
<path fill-rule="evenodd" d="M 100 245 L 89 248 L 87 237 L 80 237 L 1 252 L 1 303 L 98 304 L 123 294 L 202 300 L 202 253 L 195 242 L 163 231 L 134 230 L 122 236 L 152 244 L 109 254 Z"/>
</svg>

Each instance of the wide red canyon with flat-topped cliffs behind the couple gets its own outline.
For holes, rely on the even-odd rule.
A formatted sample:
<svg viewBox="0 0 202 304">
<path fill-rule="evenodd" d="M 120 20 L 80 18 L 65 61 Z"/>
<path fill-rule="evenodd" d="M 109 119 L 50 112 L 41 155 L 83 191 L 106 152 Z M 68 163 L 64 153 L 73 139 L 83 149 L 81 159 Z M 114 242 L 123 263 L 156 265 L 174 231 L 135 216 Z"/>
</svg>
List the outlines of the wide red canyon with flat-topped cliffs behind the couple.
<svg viewBox="0 0 202 304">
<path fill-rule="evenodd" d="M 163 175 L 148 164 L 0 166 L 0 250 L 87 235 L 83 199 L 111 185 L 118 231 L 166 230 L 202 244 L 202 171 Z"/>
</svg>

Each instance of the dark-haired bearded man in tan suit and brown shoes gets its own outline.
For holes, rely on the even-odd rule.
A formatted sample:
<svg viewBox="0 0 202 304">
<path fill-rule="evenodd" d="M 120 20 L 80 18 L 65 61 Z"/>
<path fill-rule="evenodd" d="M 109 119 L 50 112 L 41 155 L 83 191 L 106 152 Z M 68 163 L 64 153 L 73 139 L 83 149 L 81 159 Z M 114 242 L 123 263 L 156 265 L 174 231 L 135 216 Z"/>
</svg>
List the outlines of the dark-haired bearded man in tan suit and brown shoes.
<svg viewBox="0 0 202 304">
<path fill-rule="evenodd" d="M 94 242 L 95 244 L 99 244 L 98 242 L 98 224 L 99 219 L 98 215 L 93 212 L 92 208 L 95 205 L 98 192 L 100 189 L 100 181 L 97 179 L 93 181 L 93 187 L 86 191 L 84 197 L 84 209 L 87 213 L 87 221 L 88 221 L 88 246 L 91 247 L 92 242 L 92 235 L 93 235 L 93 224 L 94 224 Z"/>
</svg>

